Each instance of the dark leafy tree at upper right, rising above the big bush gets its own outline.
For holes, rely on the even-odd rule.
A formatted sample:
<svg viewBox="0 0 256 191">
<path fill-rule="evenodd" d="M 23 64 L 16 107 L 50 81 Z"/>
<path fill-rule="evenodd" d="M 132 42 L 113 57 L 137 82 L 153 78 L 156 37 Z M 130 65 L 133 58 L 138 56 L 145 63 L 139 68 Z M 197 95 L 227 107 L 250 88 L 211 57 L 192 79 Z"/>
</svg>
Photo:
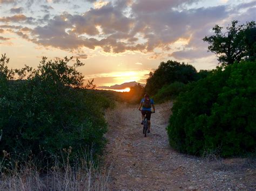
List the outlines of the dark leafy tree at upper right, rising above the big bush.
<svg viewBox="0 0 256 191">
<path fill-rule="evenodd" d="M 215 53 L 218 60 L 223 65 L 240 62 L 242 59 L 255 59 L 255 22 L 237 25 L 234 20 L 231 26 L 226 27 L 227 32 L 223 33 L 223 27 L 215 25 L 214 35 L 206 36 L 203 40 L 210 44 L 208 51 Z"/>
</svg>

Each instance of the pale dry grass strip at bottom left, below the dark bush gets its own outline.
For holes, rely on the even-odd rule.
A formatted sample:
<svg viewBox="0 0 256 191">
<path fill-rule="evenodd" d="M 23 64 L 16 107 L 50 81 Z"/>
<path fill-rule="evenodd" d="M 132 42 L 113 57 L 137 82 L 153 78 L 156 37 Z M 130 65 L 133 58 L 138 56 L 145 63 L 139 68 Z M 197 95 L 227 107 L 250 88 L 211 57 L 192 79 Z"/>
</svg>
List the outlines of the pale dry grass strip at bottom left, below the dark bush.
<svg viewBox="0 0 256 191">
<path fill-rule="evenodd" d="M 70 165 L 69 154 L 63 161 L 56 159 L 55 165 L 46 172 L 40 173 L 38 163 L 32 160 L 23 165 L 8 158 L 8 168 L 0 164 L 2 172 L 1 190 L 109 190 L 109 169 L 97 168 L 92 158 L 84 155 Z M 36 165 L 37 164 L 37 165 Z"/>
</svg>

